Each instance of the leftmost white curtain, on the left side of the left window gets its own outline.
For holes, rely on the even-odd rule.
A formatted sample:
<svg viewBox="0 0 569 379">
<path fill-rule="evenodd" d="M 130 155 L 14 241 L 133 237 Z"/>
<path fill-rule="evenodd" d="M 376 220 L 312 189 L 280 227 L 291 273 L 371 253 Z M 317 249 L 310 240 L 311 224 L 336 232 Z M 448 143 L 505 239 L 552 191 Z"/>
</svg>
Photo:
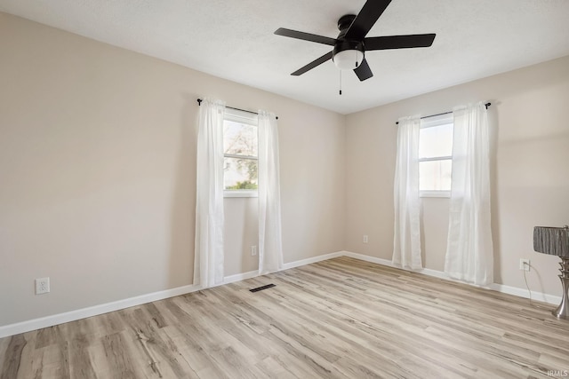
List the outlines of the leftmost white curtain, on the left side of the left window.
<svg viewBox="0 0 569 379">
<path fill-rule="evenodd" d="M 197 131 L 194 285 L 223 282 L 223 117 L 225 104 L 204 99 Z"/>
</svg>

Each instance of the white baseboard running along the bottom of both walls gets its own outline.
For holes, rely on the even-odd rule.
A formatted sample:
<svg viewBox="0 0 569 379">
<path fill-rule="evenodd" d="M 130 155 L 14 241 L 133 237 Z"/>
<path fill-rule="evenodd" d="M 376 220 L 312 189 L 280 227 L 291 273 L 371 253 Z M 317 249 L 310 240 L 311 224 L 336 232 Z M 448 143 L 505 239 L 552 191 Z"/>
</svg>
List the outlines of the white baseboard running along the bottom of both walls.
<svg viewBox="0 0 569 379">
<path fill-rule="evenodd" d="M 300 261 L 294 261 L 294 262 L 284 264 L 283 270 L 288 270 L 288 269 L 291 269 L 294 267 L 300 267 L 302 265 L 310 265 L 310 264 L 314 264 L 314 263 L 317 263 L 320 261 L 325 261 L 327 259 L 332 259 L 335 257 L 352 257 L 352 258 L 356 258 L 356 259 L 363 260 L 366 262 L 371 262 L 374 264 L 386 265 L 389 267 L 400 268 L 400 267 L 397 267 L 396 265 L 393 265 L 391 263 L 391 261 L 389 261 L 387 259 L 365 256 L 363 254 L 357 254 L 357 253 L 353 253 L 350 251 L 337 251 L 335 253 L 324 254 L 322 256 L 317 256 L 317 257 L 310 257 L 307 259 L 301 259 Z M 425 269 L 417 270 L 415 272 L 419 272 L 419 273 L 429 275 L 429 276 L 433 276 L 433 277 L 440 278 L 440 279 L 452 280 L 445 274 L 445 272 L 439 272 L 437 270 L 431 270 L 431 269 L 425 268 Z M 251 272 L 238 273 L 235 275 L 230 275 L 230 276 L 225 277 L 225 279 L 223 280 L 223 284 L 228 284 L 228 283 L 232 283 L 232 282 L 240 281 L 240 280 L 251 279 L 251 278 L 255 278 L 257 276 L 259 276 L 259 272 L 256 270 L 251 271 Z M 453 281 L 458 281 L 458 280 L 453 280 Z M 498 291 L 498 292 L 503 292 L 503 293 L 506 293 L 509 295 L 515 295 L 515 296 L 520 296 L 520 297 L 525 297 L 525 298 L 529 297 L 527 290 L 525 290 L 523 288 L 510 287 L 510 286 L 505 286 L 503 284 L 496 284 L 496 283 L 494 283 L 494 284 L 492 284 L 486 288 L 493 289 L 494 291 Z M 118 300 L 118 301 L 112 302 L 112 303 L 94 305 L 94 306 L 91 306 L 88 308 L 78 309 L 76 311 L 64 312 L 64 313 L 54 314 L 52 316 L 42 317 L 39 319 L 27 320 L 27 321 L 18 322 L 15 324 L 9 324 L 9 325 L 5 325 L 5 326 L 0 327 L 0 338 L 6 337 L 6 336 L 13 336 L 13 335 L 17 335 L 20 333 L 29 332 L 31 330 L 36 330 L 39 328 L 48 328 L 48 327 L 52 327 L 55 325 L 63 324 L 65 322 L 81 320 L 81 319 L 85 319 L 87 317 L 97 316 L 97 315 L 103 314 L 103 313 L 119 311 L 119 310 L 124 309 L 124 308 L 129 308 L 129 307 L 140 305 L 140 304 L 146 304 L 146 303 L 154 302 L 157 300 L 163 300 L 163 299 L 166 299 L 168 297 L 185 295 L 185 294 L 188 294 L 191 292 L 195 292 L 199 289 L 200 288 L 198 286 L 193 286 L 193 285 L 188 285 L 188 286 L 183 286 L 183 287 L 178 287 L 178 288 L 172 288 L 172 289 L 166 289 L 164 291 L 153 292 L 151 294 L 146 294 L 146 295 L 141 295 L 141 296 L 134 296 L 134 297 L 126 298 L 123 300 Z M 559 304 L 561 302 L 561 296 L 552 296 L 552 295 L 548 295 L 548 294 L 543 294 L 541 292 L 533 292 L 532 294 L 533 294 L 532 297 L 534 300 L 543 301 L 543 302 L 546 302 L 549 304 Z"/>
</svg>

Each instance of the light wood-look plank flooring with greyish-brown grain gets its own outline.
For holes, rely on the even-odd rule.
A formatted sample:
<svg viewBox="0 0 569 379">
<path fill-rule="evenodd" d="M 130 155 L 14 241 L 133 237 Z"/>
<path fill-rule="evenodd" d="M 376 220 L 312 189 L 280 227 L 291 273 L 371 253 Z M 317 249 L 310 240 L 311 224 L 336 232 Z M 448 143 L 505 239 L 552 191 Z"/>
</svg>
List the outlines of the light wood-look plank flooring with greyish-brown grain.
<svg viewBox="0 0 569 379">
<path fill-rule="evenodd" d="M 341 257 L 0 339 L 0 377 L 569 376 L 546 308 Z"/>
</svg>

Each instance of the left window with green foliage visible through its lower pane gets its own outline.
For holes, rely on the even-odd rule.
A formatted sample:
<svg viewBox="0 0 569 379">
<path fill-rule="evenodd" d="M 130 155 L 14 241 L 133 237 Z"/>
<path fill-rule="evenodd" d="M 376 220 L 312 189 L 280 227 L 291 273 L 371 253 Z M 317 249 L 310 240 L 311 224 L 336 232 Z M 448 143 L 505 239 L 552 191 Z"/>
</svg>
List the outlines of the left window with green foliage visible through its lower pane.
<svg viewBox="0 0 569 379">
<path fill-rule="evenodd" d="M 257 196 L 257 114 L 226 108 L 223 121 L 223 193 Z"/>
</svg>

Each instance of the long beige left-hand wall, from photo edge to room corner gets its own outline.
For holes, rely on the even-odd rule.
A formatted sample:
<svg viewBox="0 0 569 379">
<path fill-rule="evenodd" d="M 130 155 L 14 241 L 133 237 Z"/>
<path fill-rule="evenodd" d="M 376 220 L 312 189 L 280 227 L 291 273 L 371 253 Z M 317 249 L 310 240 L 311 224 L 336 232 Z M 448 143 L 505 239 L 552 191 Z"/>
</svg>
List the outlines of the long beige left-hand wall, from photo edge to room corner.
<svg viewBox="0 0 569 379">
<path fill-rule="evenodd" d="M 4 13 L 0 51 L 0 326 L 192 283 L 198 97 L 278 114 L 284 261 L 343 249 L 345 116 Z"/>
</svg>

